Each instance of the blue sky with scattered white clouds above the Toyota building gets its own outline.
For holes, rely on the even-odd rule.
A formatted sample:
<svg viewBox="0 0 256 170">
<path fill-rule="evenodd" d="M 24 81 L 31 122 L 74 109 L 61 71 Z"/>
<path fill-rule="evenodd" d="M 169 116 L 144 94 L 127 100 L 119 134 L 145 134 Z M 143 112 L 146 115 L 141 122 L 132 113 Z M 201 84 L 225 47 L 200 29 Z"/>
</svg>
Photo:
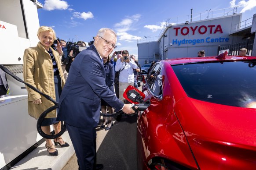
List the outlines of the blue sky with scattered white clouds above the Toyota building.
<svg viewBox="0 0 256 170">
<path fill-rule="evenodd" d="M 117 49 L 138 56 L 137 39 L 158 36 L 163 25 L 220 17 L 224 12 L 242 14 L 242 21 L 256 14 L 256 0 L 38 0 L 40 26 L 51 26 L 60 39 L 76 42 L 93 40 L 100 28 L 117 33 Z M 225 8 L 225 10 L 224 10 Z M 209 15 L 208 15 L 209 11 Z"/>
</svg>

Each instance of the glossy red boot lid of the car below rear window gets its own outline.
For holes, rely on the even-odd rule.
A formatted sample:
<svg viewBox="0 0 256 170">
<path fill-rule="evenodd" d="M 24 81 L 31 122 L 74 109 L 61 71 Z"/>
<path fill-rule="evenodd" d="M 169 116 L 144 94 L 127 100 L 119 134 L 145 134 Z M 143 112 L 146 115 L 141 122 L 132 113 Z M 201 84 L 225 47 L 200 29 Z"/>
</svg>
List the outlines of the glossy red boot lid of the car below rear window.
<svg viewBox="0 0 256 170">
<path fill-rule="evenodd" d="M 174 111 L 201 169 L 256 167 L 256 109 L 185 97 Z"/>
</svg>

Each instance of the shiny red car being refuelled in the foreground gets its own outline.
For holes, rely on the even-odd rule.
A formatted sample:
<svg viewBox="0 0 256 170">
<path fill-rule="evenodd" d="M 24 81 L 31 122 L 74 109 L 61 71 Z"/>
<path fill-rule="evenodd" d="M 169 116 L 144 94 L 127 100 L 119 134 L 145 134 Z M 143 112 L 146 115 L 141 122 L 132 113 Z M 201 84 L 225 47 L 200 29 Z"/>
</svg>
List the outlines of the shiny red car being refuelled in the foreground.
<svg viewBox="0 0 256 170">
<path fill-rule="evenodd" d="M 138 113 L 138 168 L 255 170 L 256 57 L 162 60 Z"/>
</svg>

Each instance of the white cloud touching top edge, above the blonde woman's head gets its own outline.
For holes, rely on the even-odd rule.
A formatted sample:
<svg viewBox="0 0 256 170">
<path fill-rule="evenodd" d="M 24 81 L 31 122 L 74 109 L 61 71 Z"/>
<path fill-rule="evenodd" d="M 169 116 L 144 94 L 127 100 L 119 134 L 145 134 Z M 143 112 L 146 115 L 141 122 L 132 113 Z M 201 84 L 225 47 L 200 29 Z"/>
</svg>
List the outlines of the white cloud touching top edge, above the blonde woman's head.
<svg viewBox="0 0 256 170">
<path fill-rule="evenodd" d="M 45 0 L 44 9 L 47 11 L 52 10 L 66 10 L 69 7 L 68 3 L 64 0 Z"/>
</svg>

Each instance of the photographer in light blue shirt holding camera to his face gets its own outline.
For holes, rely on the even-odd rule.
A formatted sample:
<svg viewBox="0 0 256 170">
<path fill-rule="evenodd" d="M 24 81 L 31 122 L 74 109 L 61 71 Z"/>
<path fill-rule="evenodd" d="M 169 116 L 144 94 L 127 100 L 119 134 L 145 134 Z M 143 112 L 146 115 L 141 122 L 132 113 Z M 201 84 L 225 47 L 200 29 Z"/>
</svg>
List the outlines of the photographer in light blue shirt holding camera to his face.
<svg viewBox="0 0 256 170">
<path fill-rule="evenodd" d="M 115 52 L 116 53 L 116 52 Z M 119 74 L 119 99 L 124 101 L 125 89 L 134 83 L 133 69 L 138 66 L 135 62 L 129 58 L 129 52 L 127 50 L 122 51 L 122 57 L 117 60 L 115 71 L 120 71 Z"/>
</svg>

